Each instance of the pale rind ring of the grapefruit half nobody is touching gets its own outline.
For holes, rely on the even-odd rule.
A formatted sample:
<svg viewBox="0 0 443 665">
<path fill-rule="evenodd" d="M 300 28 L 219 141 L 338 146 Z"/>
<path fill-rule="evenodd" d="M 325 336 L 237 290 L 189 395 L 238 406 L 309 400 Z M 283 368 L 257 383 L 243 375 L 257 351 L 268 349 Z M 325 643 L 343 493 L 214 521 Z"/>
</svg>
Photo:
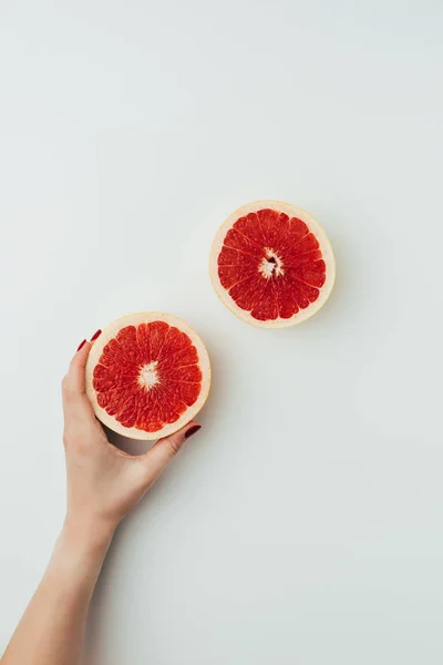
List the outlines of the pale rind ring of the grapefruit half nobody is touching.
<svg viewBox="0 0 443 665">
<path fill-rule="evenodd" d="M 256 213 L 257 211 L 261 211 L 264 208 L 271 208 L 280 213 L 286 213 L 289 215 L 289 217 L 298 217 L 305 222 L 318 239 L 321 254 L 326 263 L 326 282 L 320 289 L 318 299 L 315 303 L 311 303 L 311 305 L 309 305 L 309 307 L 306 309 L 300 309 L 298 314 L 295 314 L 289 319 L 277 318 L 266 321 L 259 321 L 258 319 L 255 319 L 249 311 L 238 307 L 237 303 L 230 297 L 228 290 L 222 286 L 218 277 L 218 255 L 222 250 L 223 242 L 227 232 L 239 217 L 244 217 L 249 213 Z M 209 274 L 217 296 L 220 298 L 222 303 L 226 305 L 226 307 L 230 309 L 230 311 L 233 311 L 238 318 L 258 328 L 289 328 L 291 326 L 296 326 L 297 324 L 301 324 L 301 321 L 306 321 L 308 318 L 317 314 L 317 311 L 319 311 L 319 309 L 321 309 L 321 307 L 324 305 L 331 294 L 333 283 L 336 280 L 336 260 L 328 236 L 317 219 L 315 219 L 309 213 L 295 205 L 291 205 L 290 203 L 284 203 L 281 201 L 255 201 L 254 203 L 248 203 L 247 205 L 236 209 L 219 227 L 210 249 Z"/>
</svg>

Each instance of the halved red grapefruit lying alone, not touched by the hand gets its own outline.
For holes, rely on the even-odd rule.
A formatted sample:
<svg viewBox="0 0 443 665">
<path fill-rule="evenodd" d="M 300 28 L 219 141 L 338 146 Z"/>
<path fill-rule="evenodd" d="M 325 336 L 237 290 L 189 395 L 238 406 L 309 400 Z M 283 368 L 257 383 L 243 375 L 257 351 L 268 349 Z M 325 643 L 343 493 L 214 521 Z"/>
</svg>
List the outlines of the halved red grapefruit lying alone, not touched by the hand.
<svg viewBox="0 0 443 665">
<path fill-rule="evenodd" d="M 336 276 L 331 245 L 305 211 L 257 201 L 233 213 L 210 253 L 210 277 L 222 301 L 264 328 L 299 324 L 320 309 Z"/>
</svg>

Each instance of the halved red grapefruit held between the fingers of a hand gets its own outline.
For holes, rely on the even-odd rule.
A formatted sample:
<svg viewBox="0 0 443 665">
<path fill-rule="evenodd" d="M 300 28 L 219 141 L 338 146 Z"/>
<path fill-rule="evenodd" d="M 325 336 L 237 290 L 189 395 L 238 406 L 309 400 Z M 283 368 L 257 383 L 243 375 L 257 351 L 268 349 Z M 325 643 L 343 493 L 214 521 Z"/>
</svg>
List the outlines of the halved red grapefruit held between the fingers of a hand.
<svg viewBox="0 0 443 665">
<path fill-rule="evenodd" d="M 95 416 L 133 439 L 158 439 L 184 427 L 205 403 L 209 383 L 200 338 L 168 314 L 119 319 L 94 342 L 86 364 Z"/>
</svg>

